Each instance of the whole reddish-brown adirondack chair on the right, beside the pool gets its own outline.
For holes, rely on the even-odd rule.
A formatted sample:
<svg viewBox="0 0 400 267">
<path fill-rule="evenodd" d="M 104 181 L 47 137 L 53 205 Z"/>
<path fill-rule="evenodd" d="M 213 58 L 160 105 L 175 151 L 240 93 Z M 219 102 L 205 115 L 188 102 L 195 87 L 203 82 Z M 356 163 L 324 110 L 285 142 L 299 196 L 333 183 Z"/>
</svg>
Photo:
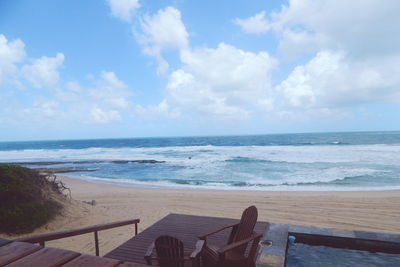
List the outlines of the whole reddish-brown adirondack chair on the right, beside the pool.
<svg viewBox="0 0 400 267">
<path fill-rule="evenodd" d="M 250 206 L 243 211 L 239 223 L 227 225 L 209 233 L 199 236 L 200 240 L 207 240 L 207 237 L 222 230 L 232 228 L 228 243 L 222 247 L 215 247 L 206 242 L 202 252 L 203 266 L 207 267 L 252 267 L 257 251 L 258 243 L 262 234 L 254 232 L 257 222 L 257 208 Z M 247 251 L 247 246 L 251 244 Z M 247 254 L 247 255 L 246 255 Z"/>
</svg>

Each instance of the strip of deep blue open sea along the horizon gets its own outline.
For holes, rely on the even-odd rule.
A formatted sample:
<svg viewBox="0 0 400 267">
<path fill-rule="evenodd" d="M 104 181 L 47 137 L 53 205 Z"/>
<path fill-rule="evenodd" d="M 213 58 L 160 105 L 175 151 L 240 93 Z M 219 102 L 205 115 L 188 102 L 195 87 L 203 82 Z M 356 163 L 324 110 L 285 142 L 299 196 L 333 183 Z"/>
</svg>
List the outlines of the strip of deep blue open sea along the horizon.
<svg viewBox="0 0 400 267">
<path fill-rule="evenodd" d="M 162 137 L 0 142 L 0 151 L 29 149 L 166 148 L 209 146 L 347 146 L 400 144 L 400 132 L 270 134 L 247 136 Z"/>
</svg>

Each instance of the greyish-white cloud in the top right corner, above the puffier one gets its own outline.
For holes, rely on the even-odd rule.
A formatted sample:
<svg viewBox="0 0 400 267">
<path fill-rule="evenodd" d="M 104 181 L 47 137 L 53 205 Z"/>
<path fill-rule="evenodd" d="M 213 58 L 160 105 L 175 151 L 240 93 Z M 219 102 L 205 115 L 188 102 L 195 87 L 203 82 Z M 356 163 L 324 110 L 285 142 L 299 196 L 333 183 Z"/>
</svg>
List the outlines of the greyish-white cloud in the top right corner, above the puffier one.
<svg viewBox="0 0 400 267">
<path fill-rule="evenodd" d="M 281 35 L 284 53 L 302 52 L 312 44 L 355 57 L 382 55 L 400 47 L 399 11 L 396 0 L 290 0 L 270 14 L 268 27 Z"/>
</svg>

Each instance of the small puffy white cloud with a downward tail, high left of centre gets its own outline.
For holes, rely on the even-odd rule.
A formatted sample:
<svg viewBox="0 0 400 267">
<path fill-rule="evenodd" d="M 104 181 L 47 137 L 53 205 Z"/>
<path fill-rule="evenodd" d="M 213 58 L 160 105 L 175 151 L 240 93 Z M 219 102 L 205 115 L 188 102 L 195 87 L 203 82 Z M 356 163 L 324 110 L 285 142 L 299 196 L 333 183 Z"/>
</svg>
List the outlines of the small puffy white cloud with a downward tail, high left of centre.
<svg viewBox="0 0 400 267">
<path fill-rule="evenodd" d="M 158 61 L 158 73 L 168 69 L 162 50 L 184 50 L 188 47 L 188 33 L 181 20 L 181 13 L 173 7 L 160 9 L 156 14 L 145 15 L 141 21 L 142 34 L 136 34 L 144 45 L 143 51 Z"/>
</svg>

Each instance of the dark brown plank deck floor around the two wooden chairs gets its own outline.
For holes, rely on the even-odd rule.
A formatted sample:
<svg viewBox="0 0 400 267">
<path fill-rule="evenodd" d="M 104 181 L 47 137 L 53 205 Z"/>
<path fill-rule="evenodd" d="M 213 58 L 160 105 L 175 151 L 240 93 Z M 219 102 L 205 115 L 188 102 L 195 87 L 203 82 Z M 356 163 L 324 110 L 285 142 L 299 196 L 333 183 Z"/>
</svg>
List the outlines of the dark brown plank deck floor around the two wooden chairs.
<svg viewBox="0 0 400 267">
<path fill-rule="evenodd" d="M 182 240 L 185 252 L 190 253 L 195 248 L 195 243 L 198 240 L 197 236 L 238 221 L 228 218 L 169 214 L 104 257 L 121 261 L 145 263 L 144 254 L 147 248 L 160 235 L 171 235 Z M 266 222 L 258 222 L 255 231 L 263 234 L 266 226 Z M 229 229 L 222 231 L 210 236 L 207 242 L 212 245 L 224 245 L 227 242 L 229 233 Z"/>
</svg>

